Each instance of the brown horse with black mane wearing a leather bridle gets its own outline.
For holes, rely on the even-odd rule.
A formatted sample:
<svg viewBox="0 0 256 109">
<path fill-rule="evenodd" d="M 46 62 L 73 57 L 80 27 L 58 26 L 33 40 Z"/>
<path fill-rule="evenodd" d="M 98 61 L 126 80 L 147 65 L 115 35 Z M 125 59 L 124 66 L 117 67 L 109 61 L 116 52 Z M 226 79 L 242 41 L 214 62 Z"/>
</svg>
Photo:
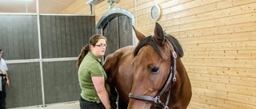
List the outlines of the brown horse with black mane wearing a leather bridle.
<svg viewBox="0 0 256 109">
<path fill-rule="evenodd" d="M 118 94 L 128 103 L 128 109 L 186 108 L 192 92 L 178 40 L 158 23 L 154 36 L 145 37 L 136 29 L 134 32 L 138 45 L 118 49 L 103 65 L 114 98 Z M 126 108 L 118 104 L 119 109 Z"/>
</svg>

